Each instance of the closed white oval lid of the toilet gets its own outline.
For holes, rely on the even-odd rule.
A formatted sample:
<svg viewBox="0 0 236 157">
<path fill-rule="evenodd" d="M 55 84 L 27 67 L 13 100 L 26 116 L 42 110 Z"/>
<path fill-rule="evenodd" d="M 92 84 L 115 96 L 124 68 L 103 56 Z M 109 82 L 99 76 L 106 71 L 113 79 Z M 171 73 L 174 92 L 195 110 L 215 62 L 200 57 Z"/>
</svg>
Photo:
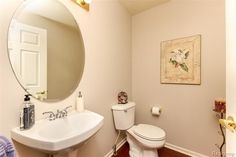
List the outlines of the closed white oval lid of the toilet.
<svg viewBox="0 0 236 157">
<path fill-rule="evenodd" d="M 136 127 L 134 127 L 133 132 L 139 137 L 152 141 L 163 140 L 166 136 L 164 130 L 148 124 L 137 125 Z"/>
</svg>

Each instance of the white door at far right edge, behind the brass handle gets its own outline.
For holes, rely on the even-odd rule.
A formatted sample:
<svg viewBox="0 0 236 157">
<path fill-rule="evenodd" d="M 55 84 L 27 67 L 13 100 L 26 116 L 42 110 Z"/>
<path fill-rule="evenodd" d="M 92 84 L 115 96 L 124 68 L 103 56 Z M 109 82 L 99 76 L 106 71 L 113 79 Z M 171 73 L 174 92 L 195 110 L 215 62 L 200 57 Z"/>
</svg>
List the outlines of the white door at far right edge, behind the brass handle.
<svg viewBox="0 0 236 157">
<path fill-rule="evenodd" d="M 226 107 L 236 119 L 236 0 L 226 0 Z M 236 157 L 236 133 L 228 130 L 226 156 Z"/>
</svg>

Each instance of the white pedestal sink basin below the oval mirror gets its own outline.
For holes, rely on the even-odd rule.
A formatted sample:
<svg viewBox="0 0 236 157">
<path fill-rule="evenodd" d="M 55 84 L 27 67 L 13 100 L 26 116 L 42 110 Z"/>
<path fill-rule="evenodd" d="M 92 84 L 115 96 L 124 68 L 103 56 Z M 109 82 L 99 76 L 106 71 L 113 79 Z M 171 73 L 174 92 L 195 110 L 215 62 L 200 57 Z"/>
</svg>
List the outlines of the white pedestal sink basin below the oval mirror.
<svg viewBox="0 0 236 157">
<path fill-rule="evenodd" d="M 102 127 L 103 121 L 103 116 L 91 111 L 75 112 L 53 121 L 39 120 L 29 130 L 14 128 L 11 137 L 29 147 L 56 152 L 86 141 Z"/>
</svg>

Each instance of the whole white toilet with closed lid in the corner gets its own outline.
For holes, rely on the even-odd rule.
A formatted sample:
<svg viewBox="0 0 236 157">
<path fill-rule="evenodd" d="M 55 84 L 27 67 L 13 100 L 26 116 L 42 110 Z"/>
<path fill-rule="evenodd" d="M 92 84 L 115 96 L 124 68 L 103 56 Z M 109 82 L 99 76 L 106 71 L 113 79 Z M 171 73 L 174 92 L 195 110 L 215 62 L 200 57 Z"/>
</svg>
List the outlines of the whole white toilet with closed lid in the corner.
<svg viewBox="0 0 236 157">
<path fill-rule="evenodd" d="M 130 157 L 158 157 L 157 149 L 165 144 L 165 131 L 148 124 L 134 125 L 134 102 L 113 105 L 112 111 L 116 129 L 126 130 Z"/>
</svg>

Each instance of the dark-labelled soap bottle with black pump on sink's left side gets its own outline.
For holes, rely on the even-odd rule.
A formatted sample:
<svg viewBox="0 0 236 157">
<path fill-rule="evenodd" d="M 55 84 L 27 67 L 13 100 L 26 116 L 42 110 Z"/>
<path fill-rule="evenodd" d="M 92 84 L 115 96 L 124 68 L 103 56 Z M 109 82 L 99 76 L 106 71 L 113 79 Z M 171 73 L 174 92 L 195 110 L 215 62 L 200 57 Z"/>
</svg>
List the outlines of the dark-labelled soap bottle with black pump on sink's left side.
<svg viewBox="0 0 236 157">
<path fill-rule="evenodd" d="M 35 123 L 34 104 L 30 101 L 30 94 L 26 94 L 23 102 L 23 108 L 20 113 L 20 129 L 31 128 Z"/>
</svg>

